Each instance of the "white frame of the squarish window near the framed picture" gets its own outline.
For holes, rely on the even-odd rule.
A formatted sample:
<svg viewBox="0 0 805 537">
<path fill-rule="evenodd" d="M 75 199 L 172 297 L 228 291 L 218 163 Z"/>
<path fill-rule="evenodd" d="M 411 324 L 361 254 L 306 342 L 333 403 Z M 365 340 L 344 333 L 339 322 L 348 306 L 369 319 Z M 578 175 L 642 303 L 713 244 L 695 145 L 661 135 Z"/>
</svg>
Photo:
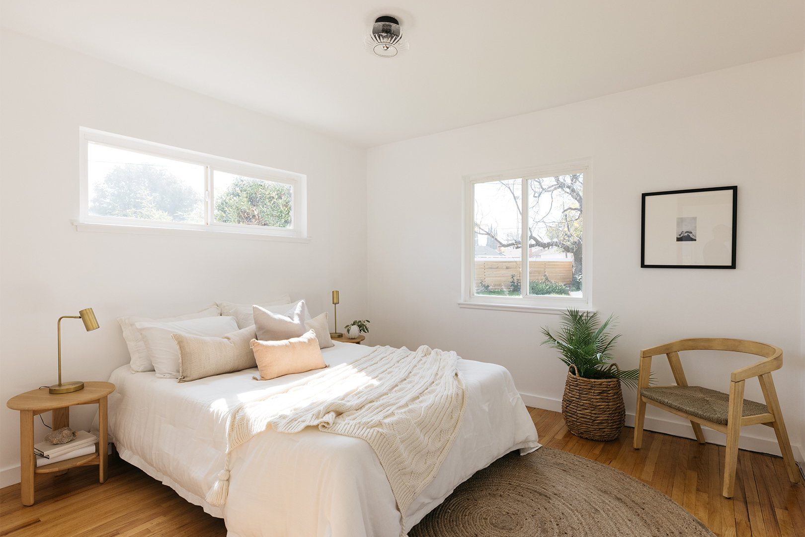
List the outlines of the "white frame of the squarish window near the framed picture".
<svg viewBox="0 0 805 537">
<path fill-rule="evenodd" d="M 592 226 L 592 173 L 590 159 L 574 160 L 566 163 L 557 163 L 544 166 L 528 167 L 518 170 L 499 171 L 463 176 L 463 204 L 462 204 L 462 263 L 461 263 L 461 308 L 499 309 L 505 311 L 561 313 L 568 308 L 581 311 L 593 311 L 592 308 L 592 263 L 590 262 Z M 520 296 L 476 295 L 475 294 L 475 185 L 502 180 L 521 179 L 521 241 L 528 229 L 527 180 L 544 177 L 565 176 L 572 173 L 584 174 L 584 211 L 581 222 L 584 229 L 584 239 L 581 246 L 584 260 L 584 278 L 582 279 L 582 296 L 551 296 L 528 295 L 528 248 L 521 248 L 522 294 Z M 527 244 L 527 243 L 526 243 Z"/>
</svg>

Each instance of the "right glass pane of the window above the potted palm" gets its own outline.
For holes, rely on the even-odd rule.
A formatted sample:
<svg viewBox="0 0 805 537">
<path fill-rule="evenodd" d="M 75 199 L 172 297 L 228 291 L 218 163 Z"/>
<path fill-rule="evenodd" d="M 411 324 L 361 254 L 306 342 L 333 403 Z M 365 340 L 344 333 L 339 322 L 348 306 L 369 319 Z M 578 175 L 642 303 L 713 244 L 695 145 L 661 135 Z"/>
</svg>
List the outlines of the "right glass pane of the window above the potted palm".
<svg viewBox="0 0 805 537">
<path fill-rule="evenodd" d="M 583 174 L 528 181 L 528 294 L 581 296 Z"/>
</svg>

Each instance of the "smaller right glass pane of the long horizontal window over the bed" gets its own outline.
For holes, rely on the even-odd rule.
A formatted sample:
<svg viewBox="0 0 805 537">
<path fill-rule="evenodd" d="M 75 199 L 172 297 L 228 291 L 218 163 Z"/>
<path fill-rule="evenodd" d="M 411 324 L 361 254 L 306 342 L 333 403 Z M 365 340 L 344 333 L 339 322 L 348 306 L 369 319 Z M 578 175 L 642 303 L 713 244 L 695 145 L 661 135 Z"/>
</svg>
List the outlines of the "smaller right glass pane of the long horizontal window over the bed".
<svg viewBox="0 0 805 537">
<path fill-rule="evenodd" d="M 293 228 L 293 187 L 215 171 L 215 221 Z"/>
</svg>

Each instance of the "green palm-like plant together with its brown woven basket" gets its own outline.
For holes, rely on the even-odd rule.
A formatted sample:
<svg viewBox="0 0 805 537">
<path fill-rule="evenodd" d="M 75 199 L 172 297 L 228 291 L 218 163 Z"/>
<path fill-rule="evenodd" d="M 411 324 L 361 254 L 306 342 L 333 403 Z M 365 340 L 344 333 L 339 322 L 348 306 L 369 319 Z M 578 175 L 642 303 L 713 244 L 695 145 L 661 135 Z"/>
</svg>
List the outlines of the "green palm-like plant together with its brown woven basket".
<svg viewBox="0 0 805 537">
<path fill-rule="evenodd" d="M 626 411 L 621 382 L 638 386 L 639 370 L 621 370 L 609 354 L 620 334 L 613 336 L 614 317 L 600 323 L 596 312 L 568 309 L 554 336 L 543 328 L 543 345 L 559 351 L 568 366 L 562 414 L 568 431 L 590 440 L 614 440 L 621 434 Z"/>
</svg>

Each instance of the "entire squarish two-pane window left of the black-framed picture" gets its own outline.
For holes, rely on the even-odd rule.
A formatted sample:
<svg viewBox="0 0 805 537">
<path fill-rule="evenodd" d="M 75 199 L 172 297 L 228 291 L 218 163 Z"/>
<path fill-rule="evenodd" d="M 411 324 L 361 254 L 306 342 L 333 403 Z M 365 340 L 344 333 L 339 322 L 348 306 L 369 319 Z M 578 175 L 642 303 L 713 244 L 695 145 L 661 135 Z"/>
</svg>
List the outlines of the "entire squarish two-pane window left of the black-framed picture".
<svg viewBox="0 0 805 537">
<path fill-rule="evenodd" d="M 463 307 L 590 308 L 588 163 L 464 177 Z"/>
</svg>

